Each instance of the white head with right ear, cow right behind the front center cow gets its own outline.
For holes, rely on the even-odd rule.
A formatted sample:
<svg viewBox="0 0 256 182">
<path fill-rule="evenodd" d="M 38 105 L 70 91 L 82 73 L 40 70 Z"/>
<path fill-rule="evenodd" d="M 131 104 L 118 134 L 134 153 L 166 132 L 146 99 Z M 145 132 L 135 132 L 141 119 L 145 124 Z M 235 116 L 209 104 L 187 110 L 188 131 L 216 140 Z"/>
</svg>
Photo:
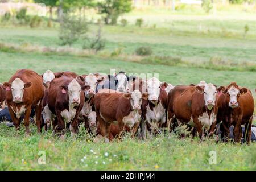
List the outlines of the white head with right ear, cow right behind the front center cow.
<svg viewBox="0 0 256 182">
<path fill-rule="evenodd" d="M 166 89 L 168 84 L 166 82 L 160 82 L 158 78 L 152 77 L 147 81 L 147 93 L 148 100 L 152 103 L 156 103 L 159 100 L 160 90 Z"/>
</svg>

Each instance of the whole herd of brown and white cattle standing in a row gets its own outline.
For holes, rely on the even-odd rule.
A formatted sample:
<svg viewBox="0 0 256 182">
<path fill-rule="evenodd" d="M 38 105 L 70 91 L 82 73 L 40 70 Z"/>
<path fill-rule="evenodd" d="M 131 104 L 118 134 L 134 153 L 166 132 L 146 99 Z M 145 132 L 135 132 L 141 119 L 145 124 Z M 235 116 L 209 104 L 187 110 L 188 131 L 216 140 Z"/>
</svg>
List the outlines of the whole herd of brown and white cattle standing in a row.
<svg viewBox="0 0 256 182">
<path fill-rule="evenodd" d="M 240 142 L 245 125 L 247 142 L 251 138 L 254 99 L 249 89 L 236 82 L 228 86 L 207 84 L 172 86 L 152 77 L 148 80 L 125 72 L 114 75 L 46 71 L 43 75 L 22 69 L 0 85 L 0 102 L 6 102 L 11 119 L 19 129 L 24 115 L 26 134 L 30 134 L 30 114 L 35 110 L 38 133 L 42 128 L 63 135 L 77 134 L 83 123 L 89 133 L 106 141 L 121 136 L 146 138 L 187 125 L 193 135 L 212 136 L 220 123 L 221 138 Z M 167 130 L 166 130 L 167 129 Z"/>
</svg>

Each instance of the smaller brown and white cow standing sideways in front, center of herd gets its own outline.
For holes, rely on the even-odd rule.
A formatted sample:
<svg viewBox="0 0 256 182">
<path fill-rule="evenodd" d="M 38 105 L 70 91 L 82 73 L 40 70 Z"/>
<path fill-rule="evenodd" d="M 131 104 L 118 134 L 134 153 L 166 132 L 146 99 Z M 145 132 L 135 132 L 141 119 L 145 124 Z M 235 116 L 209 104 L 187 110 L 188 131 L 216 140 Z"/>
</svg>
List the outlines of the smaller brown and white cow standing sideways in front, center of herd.
<svg viewBox="0 0 256 182">
<path fill-rule="evenodd" d="M 111 140 L 110 125 L 118 121 L 121 133 L 125 126 L 128 126 L 134 136 L 141 119 L 142 98 L 147 99 L 147 93 L 142 94 L 139 90 L 131 93 L 118 93 L 109 89 L 100 90 L 94 96 L 94 106 L 101 135 Z"/>
</svg>

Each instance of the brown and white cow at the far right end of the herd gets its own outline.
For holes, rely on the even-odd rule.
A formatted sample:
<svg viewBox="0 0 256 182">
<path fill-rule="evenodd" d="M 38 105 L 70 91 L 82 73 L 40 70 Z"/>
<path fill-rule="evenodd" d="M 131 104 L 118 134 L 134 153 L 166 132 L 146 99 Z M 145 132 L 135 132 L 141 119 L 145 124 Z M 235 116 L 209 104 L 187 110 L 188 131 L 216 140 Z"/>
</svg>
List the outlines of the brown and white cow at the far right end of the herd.
<svg viewBox="0 0 256 182">
<path fill-rule="evenodd" d="M 234 126 L 234 141 L 240 142 L 242 138 L 241 125 L 245 125 L 246 140 L 251 139 L 251 123 L 254 112 L 254 99 L 251 91 L 245 87 L 241 88 L 232 82 L 228 86 L 218 88 L 218 114 L 217 123 L 221 122 L 221 137 L 229 137 L 229 127 Z"/>
</svg>

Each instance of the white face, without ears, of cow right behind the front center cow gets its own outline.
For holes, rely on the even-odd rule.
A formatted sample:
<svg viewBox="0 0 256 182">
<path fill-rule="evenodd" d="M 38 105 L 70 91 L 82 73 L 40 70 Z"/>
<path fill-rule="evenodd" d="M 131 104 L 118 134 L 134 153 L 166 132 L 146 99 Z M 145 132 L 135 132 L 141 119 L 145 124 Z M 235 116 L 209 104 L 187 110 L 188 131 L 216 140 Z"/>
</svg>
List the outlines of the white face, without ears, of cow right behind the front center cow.
<svg viewBox="0 0 256 182">
<path fill-rule="evenodd" d="M 161 82 L 156 77 L 147 81 L 148 100 L 158 100 Z"/>
</svg>

